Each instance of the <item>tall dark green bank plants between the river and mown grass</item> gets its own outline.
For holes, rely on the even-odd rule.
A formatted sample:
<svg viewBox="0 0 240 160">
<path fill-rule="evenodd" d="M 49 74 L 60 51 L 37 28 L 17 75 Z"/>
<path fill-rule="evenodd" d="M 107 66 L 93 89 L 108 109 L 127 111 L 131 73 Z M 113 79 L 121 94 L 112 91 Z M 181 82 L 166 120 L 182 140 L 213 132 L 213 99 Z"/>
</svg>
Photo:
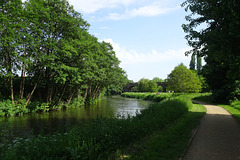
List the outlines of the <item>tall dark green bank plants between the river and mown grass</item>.
<svg viewBox="0 0 240 160">
<path fill-rule="evenodd" d="M 153 131 L 161 131 L 191 108 L 186 100 L 171 99 L 151 105 L 126 119 L 89 121 L 66 133 L 16 138 L 1 143 L 1 159 L 108 159 Z"/>
</svg>

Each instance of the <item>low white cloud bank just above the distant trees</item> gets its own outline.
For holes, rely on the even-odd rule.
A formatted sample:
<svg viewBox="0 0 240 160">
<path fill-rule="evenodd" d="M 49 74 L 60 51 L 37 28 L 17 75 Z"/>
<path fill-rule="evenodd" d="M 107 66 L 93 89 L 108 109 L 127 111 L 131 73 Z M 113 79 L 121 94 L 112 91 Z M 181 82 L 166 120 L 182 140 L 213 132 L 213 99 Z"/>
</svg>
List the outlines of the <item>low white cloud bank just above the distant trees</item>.
<svg viewBox="0 0 240 160">
<path fill-rule="evenodd" d="M 129 79 L 138 81 L 145 77 L 152 79 L 153 77 L 167 78 L 167 75 L 180 63 L 188 67 L 190 57 L 185 56 L 185 51 L 190 48 L 179 50 L 167 50 L 159 52 L 157 50 L 149 51 L 149 53 L 139 53 L 135 50 L 126 50 L 112 39 L 105 39 L 105 42 L 112 44 L 116 56 L 121 61 L 120 66 L 126 70 Z"/>
</svg>

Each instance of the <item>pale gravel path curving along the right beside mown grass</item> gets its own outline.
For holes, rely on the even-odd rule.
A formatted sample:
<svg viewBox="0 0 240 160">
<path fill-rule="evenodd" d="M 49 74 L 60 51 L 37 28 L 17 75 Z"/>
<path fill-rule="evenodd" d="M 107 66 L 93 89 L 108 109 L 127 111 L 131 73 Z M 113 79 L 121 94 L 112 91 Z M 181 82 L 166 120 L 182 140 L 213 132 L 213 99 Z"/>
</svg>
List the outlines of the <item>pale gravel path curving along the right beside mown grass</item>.
<svg viewBox="0 0 240 160">
<path fill-rule="evenodd" d="M 240 124 L 222 107 L 203 105 L 207 113 L 182 159 L 240 160 Z"/>
</svg>

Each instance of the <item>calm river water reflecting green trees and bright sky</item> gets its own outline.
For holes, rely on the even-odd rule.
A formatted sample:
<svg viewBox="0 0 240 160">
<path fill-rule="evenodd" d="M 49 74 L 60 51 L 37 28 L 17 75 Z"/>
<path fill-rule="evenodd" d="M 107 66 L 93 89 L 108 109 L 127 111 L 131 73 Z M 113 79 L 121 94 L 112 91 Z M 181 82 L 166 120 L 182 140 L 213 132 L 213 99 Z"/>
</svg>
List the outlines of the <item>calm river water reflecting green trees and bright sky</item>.
<svg viewBox="0 0 240 160">
<path fill-rule="evenodd" d="M 20 117 L 0 118 L 1 132 L 9 132 L 12 136 L 25 134 L 51 133 L 66 130 L 72 125 L 82 124 L 97 117 L 126 117 L 134 116 L 137 112 L 147 108 L 152 102 L 139 99 L 108 96 L 95 105 L 76 107 L 49 113 L 34 113 Z"/>
</svg>

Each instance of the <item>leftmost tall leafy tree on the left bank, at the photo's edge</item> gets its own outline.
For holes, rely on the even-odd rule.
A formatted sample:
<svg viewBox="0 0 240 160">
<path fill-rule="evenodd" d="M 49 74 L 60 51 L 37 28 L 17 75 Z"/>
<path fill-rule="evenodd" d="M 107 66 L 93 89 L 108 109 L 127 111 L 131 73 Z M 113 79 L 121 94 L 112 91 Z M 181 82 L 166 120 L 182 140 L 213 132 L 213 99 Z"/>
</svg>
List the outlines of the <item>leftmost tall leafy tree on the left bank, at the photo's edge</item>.
<svg viewBox="0 0 240 160">
<path fill-rule="evenodd" d="M 22 46 L 22 1 L 2 0 L 0 2 L 0 74 L 8 79 L 12 104 L 14 104 L 13 78 L 18 67 L 19 46 Z"/>
</svg>

